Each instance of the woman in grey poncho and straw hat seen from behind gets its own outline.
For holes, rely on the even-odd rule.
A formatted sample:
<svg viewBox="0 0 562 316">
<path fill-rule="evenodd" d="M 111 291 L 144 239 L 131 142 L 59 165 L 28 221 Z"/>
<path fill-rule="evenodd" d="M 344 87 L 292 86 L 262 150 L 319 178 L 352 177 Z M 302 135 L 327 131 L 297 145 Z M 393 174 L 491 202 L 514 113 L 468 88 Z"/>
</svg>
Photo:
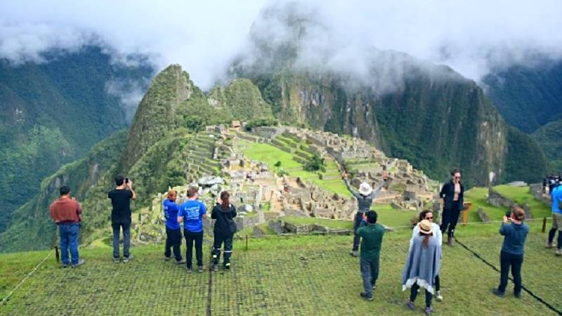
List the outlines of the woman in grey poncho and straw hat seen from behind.
<svg viewBox="0 0 562 316">
<path fill-rule="evenodd" d="M 439 274 L 441 247 L 438 240 L 431 232 L 429 220 L 421 220 L 418 223 L 419 235 L 414 237 L 410 251 L 406 258 L 406 264 L 402 273 L 402 290 L 411 288 L 410 301 L 407 307 L 410 310 L 416 308 L 417 291 L 423 287 L 426 291 L 426 314 L 431 314 L 431 300 L 435 293 L 435 277 Z"/>
</svg>

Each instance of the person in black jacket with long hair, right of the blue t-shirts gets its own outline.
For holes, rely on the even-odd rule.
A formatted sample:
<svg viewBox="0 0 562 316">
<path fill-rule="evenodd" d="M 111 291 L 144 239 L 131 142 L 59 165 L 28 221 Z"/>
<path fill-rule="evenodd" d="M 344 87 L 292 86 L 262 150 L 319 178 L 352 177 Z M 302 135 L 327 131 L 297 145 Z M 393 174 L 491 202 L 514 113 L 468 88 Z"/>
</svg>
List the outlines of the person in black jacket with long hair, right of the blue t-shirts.
<svg viewBox="0 0 562 316">
<path fill-rule="evenodd" d="M 224 270 L 230 270 L 230 256 L 233 254 L 233 236 L 236 232 L 236 208 L 230 204 L 228 192 L 221 192 L 221 203 L 215 204 L 211 212 L 211 218 L 215 220 L 214 242 L 213 242 L 213 264 L 212 271 L 218 271 L 218 259 L 221 258 L 221 244 L 224 242 Z"/>
</svg>

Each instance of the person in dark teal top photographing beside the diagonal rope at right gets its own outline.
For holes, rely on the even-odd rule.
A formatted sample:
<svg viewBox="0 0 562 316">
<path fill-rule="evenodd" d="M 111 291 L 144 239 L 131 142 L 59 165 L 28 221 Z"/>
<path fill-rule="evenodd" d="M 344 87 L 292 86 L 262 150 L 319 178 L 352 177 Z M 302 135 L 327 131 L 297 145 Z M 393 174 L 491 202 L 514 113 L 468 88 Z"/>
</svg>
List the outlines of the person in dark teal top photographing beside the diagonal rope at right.
<svg viewBox="0 0 562 316">
<path fill-rule="evenodd" d="M 508 217 L 509 215 L 509 217 Z M 520 206 L 515 206 L 511 212 L 504 216 L 499 233 L 504 236 L 502 252 L 499 255 L 500 277 L 499 287 L 492 289 L 492 292 L 500 297 L 505 296 L 507 287 L 507 277 L 511 267 L 511 275 L 514 278 L 514 294 L 516 298 L 521 298 L 521 265 L 523 265 L 523 248 L 525 239 L 529 233 L 529 226 L 523 223 L 525 210 Z M 511 224 L 508 224 L 508 220 Z"/>
</svg>

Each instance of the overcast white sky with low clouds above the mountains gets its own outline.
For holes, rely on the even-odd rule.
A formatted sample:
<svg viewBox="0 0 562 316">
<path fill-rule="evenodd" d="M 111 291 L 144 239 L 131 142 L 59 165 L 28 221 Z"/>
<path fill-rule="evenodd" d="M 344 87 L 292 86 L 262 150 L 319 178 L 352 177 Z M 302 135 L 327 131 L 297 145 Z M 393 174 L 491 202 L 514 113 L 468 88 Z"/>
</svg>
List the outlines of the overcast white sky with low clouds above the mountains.
<svg viewBox="0 0 562 316">
<path fill-rule="evenodd" d="M 249 30 L 282 37 L 283 25 L 260 18 L 285 1 L 2 1 L 0 57 L 41 62 L 51 48 L 100 44 L 115 60 L 145 54 L 157 69 L 179 63 L 199 86 L 214 84 L 232 58 L 248 53 Z M 299 1 L 320 27 L 309 57 L 333 50 L 358 62 L 360 49 L 403 51 L 446 64 L 471 79 L 492 67 L 562 57 L 562 1 Z"/>
</svg>

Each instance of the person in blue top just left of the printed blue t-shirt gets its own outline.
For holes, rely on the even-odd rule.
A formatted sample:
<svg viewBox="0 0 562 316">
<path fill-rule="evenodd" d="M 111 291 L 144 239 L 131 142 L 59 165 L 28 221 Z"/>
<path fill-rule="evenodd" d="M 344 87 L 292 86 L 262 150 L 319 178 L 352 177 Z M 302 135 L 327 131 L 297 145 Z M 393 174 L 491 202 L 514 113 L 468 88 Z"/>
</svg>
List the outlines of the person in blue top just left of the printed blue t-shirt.
<svg viewBox="0 0 562 316">
<path fill-rule="evenodd" d="M 166 248 L 164 249 L 164 260 L 169 261 L 171 259 L 171 249 L 174 248 L 176 263 L 181 264 L 185 263 L 185 260 L 182 260 L 180 251 L 181 225 L 178 223 L 180 207 L 176 204 L 177 197 L 178 192 L 170 190 L 167 198 L 164 199 L 162 203 L 162 212 L 164 213 L 164 218 L 166 218 Z"/>
</svg>

